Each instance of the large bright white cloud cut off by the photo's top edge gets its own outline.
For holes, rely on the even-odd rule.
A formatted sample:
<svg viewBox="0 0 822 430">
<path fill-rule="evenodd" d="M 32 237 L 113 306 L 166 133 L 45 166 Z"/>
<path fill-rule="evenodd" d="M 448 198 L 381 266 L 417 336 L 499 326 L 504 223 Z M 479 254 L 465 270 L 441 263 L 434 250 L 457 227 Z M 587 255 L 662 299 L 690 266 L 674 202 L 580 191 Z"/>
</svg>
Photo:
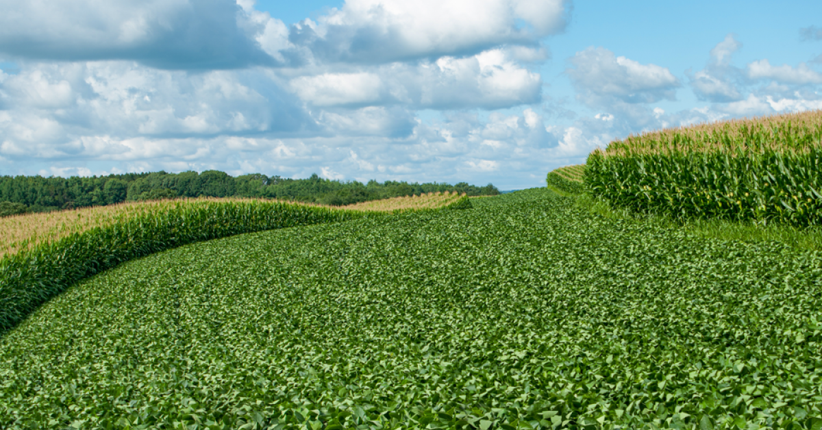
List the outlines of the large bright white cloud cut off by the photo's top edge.
<svg viewBox="0 0 822 430">
<path fill-rule="evenodd" d="M 569 0 L 348 0 L 289 40 L 324 62 L 464 56 L 501 44 L 536 45 L 564 30 Z"/>
</svg>

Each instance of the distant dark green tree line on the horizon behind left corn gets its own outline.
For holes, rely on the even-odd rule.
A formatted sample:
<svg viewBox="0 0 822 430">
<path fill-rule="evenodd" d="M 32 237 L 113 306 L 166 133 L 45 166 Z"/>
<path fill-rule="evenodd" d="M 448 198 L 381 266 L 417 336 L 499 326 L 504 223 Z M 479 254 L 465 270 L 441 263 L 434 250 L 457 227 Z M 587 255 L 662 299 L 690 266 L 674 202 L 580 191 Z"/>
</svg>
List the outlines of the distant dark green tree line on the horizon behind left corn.
<svg viewBox="0 0 822 430">
<path fill-rule="evenodd" d="M 307 179 L 267 177 L 261 173 L 233 178 L 217 170 L 203 173 L 126 173 L 89 178 L 0 176 L 0 215 L 177 197 L 261 197 L 342 206 L 443 191 L 464 192 L 469 196 L 500 193 L 490 183 L 485 187 L 468 183 L 378 183 L 375 180 L 363 184 L 323 179 L 316 173 Z"/>
</svg>

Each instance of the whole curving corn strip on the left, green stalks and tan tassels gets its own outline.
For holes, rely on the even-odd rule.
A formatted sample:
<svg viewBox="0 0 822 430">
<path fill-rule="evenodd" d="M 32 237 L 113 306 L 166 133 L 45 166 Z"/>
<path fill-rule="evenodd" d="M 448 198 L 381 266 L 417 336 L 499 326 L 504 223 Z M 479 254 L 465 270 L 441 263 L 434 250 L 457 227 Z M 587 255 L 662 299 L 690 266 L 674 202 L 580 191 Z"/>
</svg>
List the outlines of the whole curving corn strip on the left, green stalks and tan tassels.
<svg viewBox="0 0 822 430">
<path fill-rule="evenodd" d="M 368 214 L 380 216 L 379 211 L 470 206 L 468 197 L 432 193 L 392 199 L 383 206 L 372 203 L 363 210 L 252 199 L 195 199 L 76 211 L 76 219 L 60 218 L 60 229 L 49 229 L 40 240 L 26 238 L 21 241 L 20 252 L 0 258 L 0 335 L 76 281 L 171 247 L 240 233 L 353 220 Z M 4 222 L 53 216 L 61 214 L 28 215 Z"/>
</svg>

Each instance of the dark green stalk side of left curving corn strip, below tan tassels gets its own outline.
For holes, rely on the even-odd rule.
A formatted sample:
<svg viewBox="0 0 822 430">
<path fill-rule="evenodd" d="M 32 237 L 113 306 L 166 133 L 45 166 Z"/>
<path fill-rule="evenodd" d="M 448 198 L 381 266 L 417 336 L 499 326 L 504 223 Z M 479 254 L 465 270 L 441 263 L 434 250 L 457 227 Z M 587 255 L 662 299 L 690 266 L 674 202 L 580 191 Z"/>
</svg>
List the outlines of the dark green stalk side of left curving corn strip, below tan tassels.
<svg viewBox="0 0 822 430">
<path fill-rule="evenodd" d="M 0 259 L 0 334 L 78 280 L 187 243 L 363 216 L 293 204 L 205 201 L 178 204 Z M 379 215 L 372 215 L 379 216 Z M 0 426 L 2 427 L 2 426 Z"/>
</svg>

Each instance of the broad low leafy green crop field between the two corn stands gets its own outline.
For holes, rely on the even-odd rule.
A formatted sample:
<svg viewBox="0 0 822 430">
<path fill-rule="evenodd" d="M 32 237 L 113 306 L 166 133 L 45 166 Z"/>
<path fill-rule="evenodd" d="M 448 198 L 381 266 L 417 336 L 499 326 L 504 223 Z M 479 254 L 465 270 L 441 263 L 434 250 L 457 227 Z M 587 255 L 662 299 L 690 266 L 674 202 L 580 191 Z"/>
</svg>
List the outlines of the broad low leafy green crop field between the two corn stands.
<svg viewBox="0 0 822 430">
<path fill-rule="evenodd" d="M 0 339 L 0 428 L 822 425 L 822 256 L 543 190 L 178 247 Z"/>
</svg>

